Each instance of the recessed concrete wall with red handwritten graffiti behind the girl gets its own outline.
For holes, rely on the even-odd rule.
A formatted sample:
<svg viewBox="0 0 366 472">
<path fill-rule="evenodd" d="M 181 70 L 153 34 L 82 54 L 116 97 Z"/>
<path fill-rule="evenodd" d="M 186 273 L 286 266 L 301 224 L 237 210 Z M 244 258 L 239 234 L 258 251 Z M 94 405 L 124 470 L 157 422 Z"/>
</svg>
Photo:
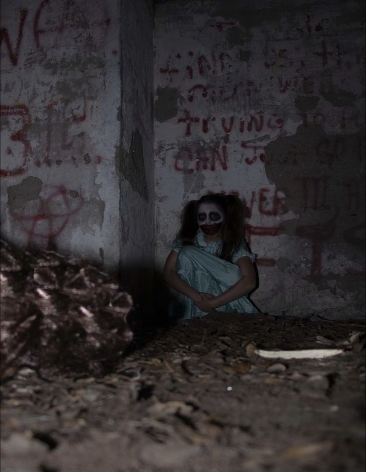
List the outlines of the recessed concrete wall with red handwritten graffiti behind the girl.
<svg viewBox="0 0 366 472">
<path fill-rule="evenodd" d="M 158 1 L 156 261 L 183 205 L 237 193 L 262 311 L 364 315 L 362 1 Z"/>
</svg>

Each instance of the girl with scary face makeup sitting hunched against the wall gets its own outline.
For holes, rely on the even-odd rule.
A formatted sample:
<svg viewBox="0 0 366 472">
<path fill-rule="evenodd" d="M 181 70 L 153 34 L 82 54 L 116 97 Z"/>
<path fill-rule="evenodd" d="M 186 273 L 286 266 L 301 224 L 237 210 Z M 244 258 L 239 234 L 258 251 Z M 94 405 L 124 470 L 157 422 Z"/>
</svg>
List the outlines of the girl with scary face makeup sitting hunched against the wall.
<svg viewBox="0 0 366 472">
<path fill-rule="evenodd" d="M 244 205 L 233 195 L 209 194 L 184 207 L 181 228 L 164 266 L 175 289 L 170 315 L 258 313 L 247 298 L 256 287 L 254 254 L 244 233 Z M 178 302 L 178 303 L 177 303 Z"/>
</svg>

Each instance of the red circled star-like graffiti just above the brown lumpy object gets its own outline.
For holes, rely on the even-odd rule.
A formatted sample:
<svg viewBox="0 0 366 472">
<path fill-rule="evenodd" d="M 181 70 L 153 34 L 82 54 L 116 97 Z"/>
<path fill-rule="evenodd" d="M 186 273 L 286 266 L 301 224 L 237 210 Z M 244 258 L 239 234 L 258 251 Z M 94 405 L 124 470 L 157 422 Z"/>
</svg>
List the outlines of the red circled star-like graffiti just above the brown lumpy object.
<svg viewBox="0 0 366 472">
<path fill-rule="evenodd" d="M 10 215 L 28 235 L 28 245 L 37 242 L 52 247 L 70 217 L 80 211 L 84 199 L 79 192 L 68 191 L 63 185 L 43 186 L 42 194 L 43 197 L 28 202 L 20 211 L 10 211 Z"/>
</svg>

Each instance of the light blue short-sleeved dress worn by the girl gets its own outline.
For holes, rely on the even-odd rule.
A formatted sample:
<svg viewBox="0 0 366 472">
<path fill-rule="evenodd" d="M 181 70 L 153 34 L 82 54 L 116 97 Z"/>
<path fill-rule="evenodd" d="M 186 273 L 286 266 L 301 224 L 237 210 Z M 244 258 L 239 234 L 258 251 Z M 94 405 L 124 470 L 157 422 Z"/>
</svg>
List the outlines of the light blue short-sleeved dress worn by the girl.
<svg viewBox="0 0 366 472">
<path fill-rule="evenodd" d="M 242 277 L 242 272 L 236 265 L 237 260 L 246 256 L 254 262 L 255 255 L 249 251 L 244 238 L 238 251 L 233 255 L 233 263 L 218 257 L 217 254 L 221 253 L 221 248 L 222 241 L 207 243 L 201 230 L 198 230 L 194 245 L 182 245 L 177 241 L 173 247 L 173 250 L 178 253 L 177 274 L 199 292 L 210 293 L 214 296 L 226 292 Z M 193 300 L 181 293 L 175 293 L 175 300 L 169 307 L 170 316 L 189 319 L 206 315 L 194 304 Z M 216 311 L 259 313 L 247 297 L 239 298 L 216 308 Z"/>
</svg>

